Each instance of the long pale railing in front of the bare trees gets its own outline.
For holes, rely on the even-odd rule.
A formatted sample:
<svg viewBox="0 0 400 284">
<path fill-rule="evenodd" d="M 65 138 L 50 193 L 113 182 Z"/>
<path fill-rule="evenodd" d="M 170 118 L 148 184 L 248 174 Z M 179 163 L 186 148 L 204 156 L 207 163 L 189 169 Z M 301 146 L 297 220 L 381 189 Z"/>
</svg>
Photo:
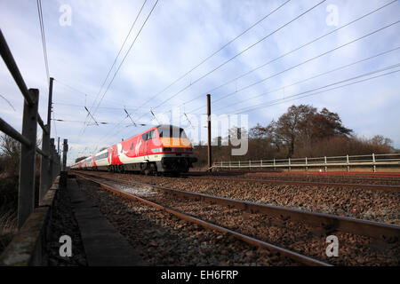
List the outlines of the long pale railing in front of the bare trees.
<svg viewBox="0 0 400 284">
<path fill-rule="evenodd" d="M 377 166 L 397 166 L 400 167 L 400 154 L 363 154 L 363 155 L 345 155 L 335 157 L 316 157 L 316 158 L 294 158 L 294 159 L 269 159 L 258 161 L 216 161 L 213 162 L 214 169 L 252 169 L 252 168 L 269 168 L 283 169 L 287 168 L 322 168 L 328 171 L 329 167 L 346 167 L 349 171 L 350 167 L 370 166 L 373 172 L 376 172 Z M 322 170 L 321 169 L 321 170 Z"/>
</svg>

